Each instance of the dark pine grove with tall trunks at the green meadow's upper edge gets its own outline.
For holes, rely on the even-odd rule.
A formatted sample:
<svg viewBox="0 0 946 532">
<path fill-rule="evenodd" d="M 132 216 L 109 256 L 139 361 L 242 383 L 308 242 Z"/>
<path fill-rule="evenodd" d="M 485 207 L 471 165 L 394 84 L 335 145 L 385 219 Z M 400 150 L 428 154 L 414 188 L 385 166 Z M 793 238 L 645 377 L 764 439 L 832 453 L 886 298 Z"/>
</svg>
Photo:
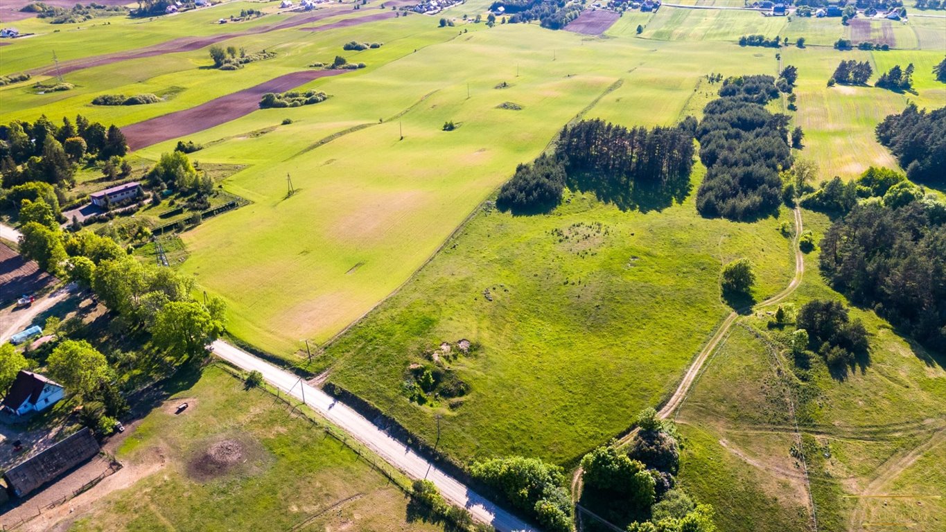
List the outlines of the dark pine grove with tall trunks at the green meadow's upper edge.
<svg viewBox="0 0 946 532">
<path fill-rule="evenodd" d="M 645 196 L 682 199 L 690 185 L 695 124 L 691 117 L 672 128 L 628 129 L 603 120 L 567 126 L 552 155 L 518 165 L 497 205 L 519 213 L 547 211 L 561 201 L 566 185 L 622 208 Z"/>
</svg>

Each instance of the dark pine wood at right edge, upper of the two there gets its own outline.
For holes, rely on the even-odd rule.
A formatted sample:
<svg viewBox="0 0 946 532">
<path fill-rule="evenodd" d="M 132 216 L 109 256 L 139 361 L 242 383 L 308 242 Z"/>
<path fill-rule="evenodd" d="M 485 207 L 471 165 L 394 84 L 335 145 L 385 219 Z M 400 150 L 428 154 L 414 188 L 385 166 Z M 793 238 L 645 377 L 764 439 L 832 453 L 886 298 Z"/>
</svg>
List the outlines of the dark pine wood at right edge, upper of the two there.
<svg viewBox="0 0 946 532">
<path fill-rule="evenodd" d="M 926 112 L 911 103 L 900 114 L 887 116 L 876 131 L 877 140 L 906 168 L 907 178 L 946 184 L 946 107 Z"/>
</svg>

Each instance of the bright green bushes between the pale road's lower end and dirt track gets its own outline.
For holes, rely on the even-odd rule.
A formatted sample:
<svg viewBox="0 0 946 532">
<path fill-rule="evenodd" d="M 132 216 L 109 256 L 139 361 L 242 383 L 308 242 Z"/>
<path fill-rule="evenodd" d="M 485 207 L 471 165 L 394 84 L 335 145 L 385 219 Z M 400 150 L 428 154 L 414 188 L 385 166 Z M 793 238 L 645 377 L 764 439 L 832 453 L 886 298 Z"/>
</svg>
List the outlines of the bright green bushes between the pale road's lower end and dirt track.
<svg viewBox="0 0 946 532">
<path fill-rule="evenodd" d="M 561 468 L 537 458 L 512 456 L 476 462 L 470 474 L 534 517 L 543 530 L 571 530 L 571 498 Z"/>
</svg>

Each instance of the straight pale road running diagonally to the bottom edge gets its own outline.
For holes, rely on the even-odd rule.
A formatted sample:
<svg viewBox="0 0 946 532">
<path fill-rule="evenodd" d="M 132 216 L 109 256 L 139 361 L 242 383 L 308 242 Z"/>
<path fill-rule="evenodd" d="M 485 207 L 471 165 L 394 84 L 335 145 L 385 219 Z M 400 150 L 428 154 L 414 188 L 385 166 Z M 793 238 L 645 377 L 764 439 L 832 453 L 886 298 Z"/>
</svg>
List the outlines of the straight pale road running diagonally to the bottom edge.
<svg viewBox="0 0 946 532">
<path fill-rule="evenodd" d="M 499 532 L 520 530 L 538 532 L 533 526 L 524 523 L 516 516 L 467 488 L 462 482 L 441 471 L 430 463 L 427 458 L 413 453 L 403 443 L 388 436 L 374 423 L 361 417 L 358 412 L 344 403 L 336 401 L 321 389 L 308 386 L 305 381 L 301 381 L 299 377 L 289 373 L 289 371 L 279 369 L 222 340 L 214 342 L 214 354 L 240 369 L 247 371 L 256 369 L 263 374 L 263 378 L 272 386 L 288 392 L 299 400 L 303 400 L 303 397 L 305 397 L 305 403 L 324 416 L 325 419 L 341 427 L 346 433 L 358 439 L 386 462 L 405 472 L 408 476 L 426 478 L 433 482 L 447 501 L 465 507 L 477 521 L 490 523 Z"/>
</svg>

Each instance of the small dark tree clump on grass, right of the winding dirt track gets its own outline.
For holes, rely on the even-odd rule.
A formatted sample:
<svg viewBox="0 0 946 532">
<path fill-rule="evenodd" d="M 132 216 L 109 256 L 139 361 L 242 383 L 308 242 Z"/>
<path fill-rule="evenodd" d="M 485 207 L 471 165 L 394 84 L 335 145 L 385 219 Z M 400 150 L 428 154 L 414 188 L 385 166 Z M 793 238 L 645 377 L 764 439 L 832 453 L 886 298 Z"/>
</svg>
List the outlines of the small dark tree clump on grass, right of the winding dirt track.
<svg viewBox="0 0 946 532">
<path fill-rule="evenodd" d="M 850 364 L 855 356 L 867 352 L 864 324 L 860 319 L 851 321 L 840 301 L 809 301 L 798 310 L 796 322 L 808 335 L 808 347 L 831 366 Z"/>
</svg>

